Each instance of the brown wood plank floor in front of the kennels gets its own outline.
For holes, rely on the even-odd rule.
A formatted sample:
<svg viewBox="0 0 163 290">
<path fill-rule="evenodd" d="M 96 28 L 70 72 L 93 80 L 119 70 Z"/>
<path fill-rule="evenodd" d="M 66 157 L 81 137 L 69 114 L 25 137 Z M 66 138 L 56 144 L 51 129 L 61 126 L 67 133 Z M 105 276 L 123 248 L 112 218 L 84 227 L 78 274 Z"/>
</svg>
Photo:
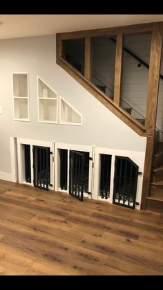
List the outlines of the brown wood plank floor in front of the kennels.
<svg viewBox="0 0 163 290">
<path fill-rule="evenodd" d="M 163 214 L 0 181 L 0 275 L 163 275 Z"/>
</svg>

